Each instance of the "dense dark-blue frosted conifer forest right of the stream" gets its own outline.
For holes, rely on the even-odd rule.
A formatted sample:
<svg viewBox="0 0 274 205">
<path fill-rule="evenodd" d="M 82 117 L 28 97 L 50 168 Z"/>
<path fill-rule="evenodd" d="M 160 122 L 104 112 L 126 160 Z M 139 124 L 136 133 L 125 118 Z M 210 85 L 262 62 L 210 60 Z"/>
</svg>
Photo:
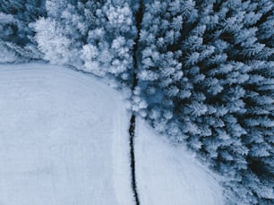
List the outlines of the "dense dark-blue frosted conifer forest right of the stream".
<svg viewBox="0 0 274 205">
<path fill-rule="evenodd" d="M 244 204 L 273 202 L 272 11 L 155 0 L 142 22 L 135 109 L 210 161 Z"/>
</svg>

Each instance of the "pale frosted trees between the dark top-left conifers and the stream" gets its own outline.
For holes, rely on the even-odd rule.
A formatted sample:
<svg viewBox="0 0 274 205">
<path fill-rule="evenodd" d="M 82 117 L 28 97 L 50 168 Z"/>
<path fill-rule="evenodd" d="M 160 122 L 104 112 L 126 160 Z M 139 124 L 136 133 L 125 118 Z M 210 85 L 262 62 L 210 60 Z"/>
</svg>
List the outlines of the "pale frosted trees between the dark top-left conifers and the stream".
<svg viewBox="0 0 274 205">
<path fill-rule="evenodd" d="M 125 0 L 47 0 L 47 17 L 32 24 L 44 59 L 127 82 L 133 75 L 136 28 Z"/>
</svg>

